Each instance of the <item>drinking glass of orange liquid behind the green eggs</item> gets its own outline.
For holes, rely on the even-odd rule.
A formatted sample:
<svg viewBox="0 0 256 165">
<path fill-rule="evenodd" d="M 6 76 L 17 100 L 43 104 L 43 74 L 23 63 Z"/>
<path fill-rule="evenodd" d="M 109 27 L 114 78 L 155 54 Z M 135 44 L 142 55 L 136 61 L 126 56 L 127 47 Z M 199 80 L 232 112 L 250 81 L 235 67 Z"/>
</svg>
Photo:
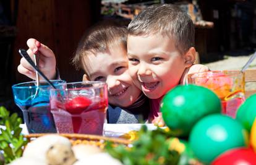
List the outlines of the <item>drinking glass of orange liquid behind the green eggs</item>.
<svg viewBox="0 0 256 165">
<path fill-rule="evenodd" d="M 221 99 L 222 112 L 233 118 L 244 102 L 244 73 L 239 70 L 208 71 L 188 75 L 188 82 L 212 90 Z"/>
</svg>

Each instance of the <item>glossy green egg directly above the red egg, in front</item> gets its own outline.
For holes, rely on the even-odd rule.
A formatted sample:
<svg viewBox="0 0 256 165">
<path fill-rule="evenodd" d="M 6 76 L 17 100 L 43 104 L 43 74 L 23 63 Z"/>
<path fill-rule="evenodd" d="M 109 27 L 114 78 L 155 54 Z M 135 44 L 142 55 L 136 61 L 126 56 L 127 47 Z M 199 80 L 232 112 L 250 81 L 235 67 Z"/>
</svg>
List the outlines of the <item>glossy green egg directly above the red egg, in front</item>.
<svg viewBox="0 0 256 165">
<path fill-rule="evenodd" d="M 203 163 L 210 163 L 231 148 L 245 146 L 247 130 L 228 116 L 211 114 L 203 117 L 191 130 L 189 145 Z"/>
</svg>

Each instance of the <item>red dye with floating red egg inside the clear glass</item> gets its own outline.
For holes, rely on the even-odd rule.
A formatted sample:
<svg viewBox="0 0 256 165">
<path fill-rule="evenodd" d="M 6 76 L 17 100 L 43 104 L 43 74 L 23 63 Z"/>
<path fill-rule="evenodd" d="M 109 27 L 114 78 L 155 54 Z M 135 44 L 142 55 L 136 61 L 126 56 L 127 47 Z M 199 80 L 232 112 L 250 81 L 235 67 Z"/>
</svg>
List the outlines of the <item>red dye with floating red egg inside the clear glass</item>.
<svg viewBox="0 0 256 165">
<path fill-rule="evenodd" d="M 85 133 L 102 135 L 106 118 L 107 100 L 92 101 L 77 96 L 64 103 L 53 103 L 51 112 L 58 133 Z"/>
</svg>

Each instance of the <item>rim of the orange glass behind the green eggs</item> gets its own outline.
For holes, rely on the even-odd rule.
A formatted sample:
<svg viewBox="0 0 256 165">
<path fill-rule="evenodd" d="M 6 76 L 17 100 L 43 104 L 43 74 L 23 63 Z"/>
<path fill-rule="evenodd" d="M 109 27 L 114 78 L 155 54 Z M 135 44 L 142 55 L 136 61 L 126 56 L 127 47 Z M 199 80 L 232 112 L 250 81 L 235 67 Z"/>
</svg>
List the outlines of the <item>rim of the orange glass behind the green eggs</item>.
<svg viewBox="0 0 256 165">
<path fill-rule="evenodd" d="M 216 75 L 216 74 L 220 74 L 223 73 L 225 75 L 228 76 L 234 76 L 234 75 L 244 75 L 244 72 L 241 72 L 240 70 L 209 70 L 209 71 L 205 71 L 205 72 L 198 72 L 198 73 L 194 73 L 194 74 L 189 74 L 187 75 L 189 78 L 203 78 L 205 77 L 205 74 L 207 73 L 211 73 L 208 74 L 207 77 L 223 77 L 224 75 Z"/>
</svg>

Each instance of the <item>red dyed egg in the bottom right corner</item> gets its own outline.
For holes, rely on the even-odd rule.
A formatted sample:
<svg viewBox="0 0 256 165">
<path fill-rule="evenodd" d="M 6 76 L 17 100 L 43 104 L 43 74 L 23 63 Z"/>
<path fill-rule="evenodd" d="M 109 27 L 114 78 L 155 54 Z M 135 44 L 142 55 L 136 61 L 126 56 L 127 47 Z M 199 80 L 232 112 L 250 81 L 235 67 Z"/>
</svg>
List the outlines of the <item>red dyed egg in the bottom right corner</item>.
<svg viewBox="0 0 256 165">
<path fill-rule="evenodd" d="M 256 164 L 256 154 L 252 148 L 236 148 L 218 156 L 211 165 L 254 165 Z"/>
</svg>

